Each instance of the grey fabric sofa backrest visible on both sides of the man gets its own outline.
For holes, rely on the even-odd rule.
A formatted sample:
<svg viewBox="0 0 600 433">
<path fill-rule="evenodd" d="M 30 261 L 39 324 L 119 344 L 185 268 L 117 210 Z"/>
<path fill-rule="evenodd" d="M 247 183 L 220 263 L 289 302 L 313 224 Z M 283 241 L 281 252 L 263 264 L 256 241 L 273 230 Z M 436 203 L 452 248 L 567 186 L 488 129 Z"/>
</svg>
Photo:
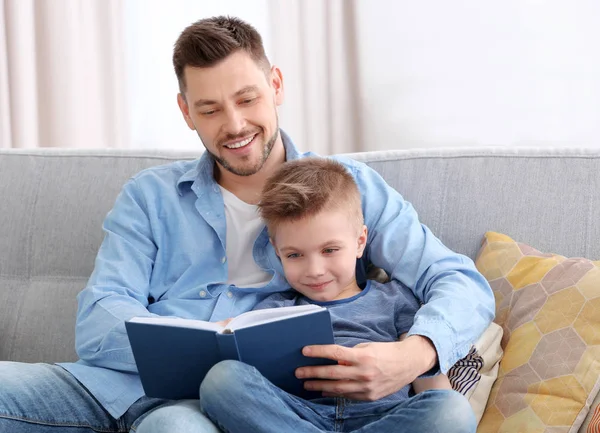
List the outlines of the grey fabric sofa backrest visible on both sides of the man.
<svg viewBox="0 0 600 433">
<path fill-rule="evenodd" d="M 0 360 L 76 359 L 76 295 L 101 225 L 138 171 L 198 153 L 0 150 Z M 437 149 L 362 160 L 450 248 L 474 258 L 499 231 L 542 251 L 600 259 L 600 151 Z"/>
</svg>

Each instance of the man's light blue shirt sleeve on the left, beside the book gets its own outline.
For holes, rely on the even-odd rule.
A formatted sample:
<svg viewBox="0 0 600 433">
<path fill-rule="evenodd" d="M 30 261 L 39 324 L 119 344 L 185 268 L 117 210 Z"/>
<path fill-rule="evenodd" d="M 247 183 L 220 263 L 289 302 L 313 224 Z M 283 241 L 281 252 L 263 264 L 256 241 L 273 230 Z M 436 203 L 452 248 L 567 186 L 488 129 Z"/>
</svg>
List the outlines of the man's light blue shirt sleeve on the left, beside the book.
<svg viewBox="0 0 600 433">
<path fill-rule="evenodd" d="M 103 229 L 94 272 L 77 296 L 75 348 L 91 364 L 135 372 L 124 322 L 134 316 L 153 316 L 147 306 L 157 248 L 134 180 L 123 187 Z"/>
</svg>

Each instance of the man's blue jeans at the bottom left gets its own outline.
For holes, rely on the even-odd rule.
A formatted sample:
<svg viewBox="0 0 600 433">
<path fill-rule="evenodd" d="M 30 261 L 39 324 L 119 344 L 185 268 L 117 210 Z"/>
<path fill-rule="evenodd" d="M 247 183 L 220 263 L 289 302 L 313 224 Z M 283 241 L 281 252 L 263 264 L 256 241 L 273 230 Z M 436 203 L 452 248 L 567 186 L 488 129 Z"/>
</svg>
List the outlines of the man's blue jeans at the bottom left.
<svg viewBox="0 0 600 433">
<path fill-rule="evenodd" d="M 217 433 L 197 400 L 142 397 L 113 418 L 57 365 L 0 362 L 0 433 Z"/>
</svg>

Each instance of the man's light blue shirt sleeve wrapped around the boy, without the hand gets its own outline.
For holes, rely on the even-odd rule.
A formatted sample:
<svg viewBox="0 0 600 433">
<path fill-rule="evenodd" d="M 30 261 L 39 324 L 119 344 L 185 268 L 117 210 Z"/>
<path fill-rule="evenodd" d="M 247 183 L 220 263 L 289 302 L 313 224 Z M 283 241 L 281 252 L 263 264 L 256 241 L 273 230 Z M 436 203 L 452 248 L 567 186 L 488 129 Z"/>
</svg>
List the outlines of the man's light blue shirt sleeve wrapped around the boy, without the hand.
<svg viewBox="0 0 600 433">
<path fill-rule="evenodd" d="M 367 259 L 423 302 L 409 335 L 426 337 L 446 372 L 492 321 L 491 288 L 473 262 L 446 248 L 375 170 L 361 163 L 352 169 L 369 228 Z M 422 373 L 427 364 L 422 362 Z"/>
</svg>

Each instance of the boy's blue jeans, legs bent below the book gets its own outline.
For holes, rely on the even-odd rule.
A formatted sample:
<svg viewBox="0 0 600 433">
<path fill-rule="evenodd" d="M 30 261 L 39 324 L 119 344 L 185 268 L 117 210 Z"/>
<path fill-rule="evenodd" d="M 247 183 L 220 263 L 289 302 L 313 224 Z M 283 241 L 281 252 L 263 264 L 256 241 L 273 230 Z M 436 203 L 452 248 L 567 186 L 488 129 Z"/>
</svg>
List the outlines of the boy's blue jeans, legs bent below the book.
<svg viewBox="0 0 600 433">
<path fill-rule="evenodd" d="M 210 370 L 200 386 L 200 404 L 230 433 L 475 433 L 477 427 L 469 402 L 456 391 L 429 390 L 401 402 L 307 401 L 238 361 Z"/>
</svg>

